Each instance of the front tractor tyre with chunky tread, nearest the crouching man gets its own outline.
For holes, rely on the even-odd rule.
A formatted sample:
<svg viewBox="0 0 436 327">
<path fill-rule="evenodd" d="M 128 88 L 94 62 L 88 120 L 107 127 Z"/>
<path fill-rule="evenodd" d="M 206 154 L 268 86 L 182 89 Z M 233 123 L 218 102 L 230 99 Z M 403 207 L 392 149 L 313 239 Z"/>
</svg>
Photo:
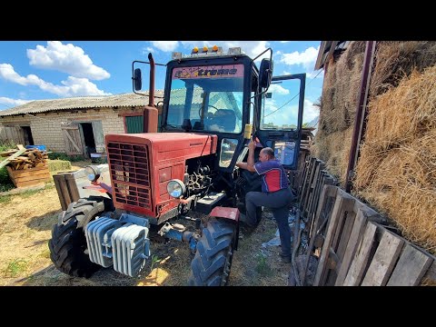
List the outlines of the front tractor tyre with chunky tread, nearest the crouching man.
<svg viewBox="0 0 436 327">
<path fill-rule="evenodd" d="M 191 263 L 190 286 L 225 286 L 233 259 L 236 225 L 211 219 L 203 228 Z"/>
</svg>

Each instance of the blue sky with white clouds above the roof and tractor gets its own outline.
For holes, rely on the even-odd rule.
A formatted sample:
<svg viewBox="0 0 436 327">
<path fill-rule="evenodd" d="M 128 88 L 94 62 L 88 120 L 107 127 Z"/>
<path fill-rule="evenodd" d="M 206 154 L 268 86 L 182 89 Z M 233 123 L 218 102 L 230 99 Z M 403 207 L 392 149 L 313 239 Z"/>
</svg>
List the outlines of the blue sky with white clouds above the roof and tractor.
<svg viewBox="0 0 436 327">
<path fill-rule="evenodd" d="M 193 46 L 241 46 L 252 57 L 271 47 L 274 75 L 306 73 L 303 122 L 318 110 L 323 73 L 313 71 L 320 41 L 0 41 L 0 110 L 33 100 L 132 92 L 132 62 L 166 64 L 173 51 L 190 54 Z M 269 55 L 269 53 L 267 53 Z M 257 64 L 260 62 L 258 61 Z M 318 74 L 318 75 L 317 75 Z M 317 75 L 316 78 L 315 75 Z M 157 89 L 164 83 L 156 68 Z"/>
</svg>

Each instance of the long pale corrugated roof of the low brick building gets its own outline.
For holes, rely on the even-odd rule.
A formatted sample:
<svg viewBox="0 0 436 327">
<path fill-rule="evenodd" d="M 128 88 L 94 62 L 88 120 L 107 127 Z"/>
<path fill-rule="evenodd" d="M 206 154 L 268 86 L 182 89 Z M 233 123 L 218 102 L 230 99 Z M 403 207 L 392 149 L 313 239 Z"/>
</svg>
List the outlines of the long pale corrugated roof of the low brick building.
<svg viewBox="0 0 436 327">
<path fill-rule="evenodd" d="M 163 96 L 163 90 L 156 90 L 154 95 Z M 161 98 L 154 98 L 154 104 L 157 104 L 161 100 Z M 0 111 L 0 116 L 38 114 L 68 109 L 130 107 L 145 104 L 148 104 L 148 96 L 134 93 L 105 96 L 79 96 L 64 99 L 35 100 L 27 104 L 18 105 L 15 108 Z"/>
</svg>

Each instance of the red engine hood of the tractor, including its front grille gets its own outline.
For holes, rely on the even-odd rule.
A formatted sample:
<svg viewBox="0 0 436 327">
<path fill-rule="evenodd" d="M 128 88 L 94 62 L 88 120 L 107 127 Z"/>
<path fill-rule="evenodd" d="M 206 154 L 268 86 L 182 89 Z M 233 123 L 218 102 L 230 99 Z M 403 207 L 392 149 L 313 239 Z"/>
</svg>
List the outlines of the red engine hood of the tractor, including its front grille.
<svg viewBox="0 0 436 327">
<path fill-rule="evenodd" d="M 104 141 L 115 208 L 158 218 L 179 203 L 170 198 L 166 185 L 172 179 L 183 181 L 187 159 L 215 154 L 218 136 L 107 134 Z"/>
</svg>

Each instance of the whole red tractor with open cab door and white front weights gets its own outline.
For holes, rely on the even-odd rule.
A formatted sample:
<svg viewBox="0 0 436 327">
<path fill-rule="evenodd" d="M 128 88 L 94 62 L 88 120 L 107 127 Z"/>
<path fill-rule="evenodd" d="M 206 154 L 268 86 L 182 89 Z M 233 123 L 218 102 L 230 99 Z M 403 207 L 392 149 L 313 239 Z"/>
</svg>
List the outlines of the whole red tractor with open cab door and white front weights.
<svg viewBox="0 0 436 327">
<path fill-rule="evenodd" d="M 255 60 L 262 54 L 252 59 L 240 48 L 227 54 L 216 46 L 187 56 L 173 54 L 165 65 L 160 133 L 153 56 L 149 54 L 149 62 L 134 62 L 135 92 L 142 83 L 141 70 L 134 65 L 151 67 L 144 133 L 105 135 L 111 185 L 99 184 L 108 196 L 80 199 L 59 215 L 49 241 L 58 270 L 89 277 L 102 266 L 113 266 L 137 276 L 151 257 L 150 240 L 157 233 L 188 243 L 195 253 L 188 284 L 228 282 L 238 244 L 238 208 L 243 210 L 247 192 L 261 190 L 260 176 L 235 163 L 246 158 L 251 137 L 272 147 L 290 170 L 300 149 L 305 74 L 272 77 L 272 50 L 263 54 L 267 51 L 270 58 L 260 68 Z M 271 105 L 272 94 L 287 94 L 287 103 Z M 286 117 L 293 123 L 284 124 Z M 98 183 L 96 166 L 86 172 Z M 190 219 L 192 211 L 207 214 L 193 230 L 172 223 Z"/>
</svg>

